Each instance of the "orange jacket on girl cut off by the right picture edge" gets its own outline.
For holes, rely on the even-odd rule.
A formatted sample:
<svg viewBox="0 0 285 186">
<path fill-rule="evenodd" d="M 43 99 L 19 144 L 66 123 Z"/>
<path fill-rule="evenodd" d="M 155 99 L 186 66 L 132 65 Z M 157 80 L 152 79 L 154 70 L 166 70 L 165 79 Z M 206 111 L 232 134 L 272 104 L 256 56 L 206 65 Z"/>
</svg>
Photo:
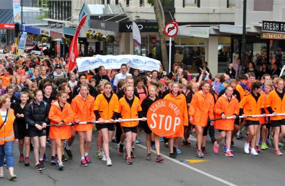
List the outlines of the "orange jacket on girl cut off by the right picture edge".
<svg viewBox="0 0 285 186">
<path fill-rule="evenodd" d="M 284 91 L 284 90 L 283 90 Z M 285 94 L 283 96 L 283 99 L 278 96 L 277 90 L 272 90 L 266 101 L 265 101 L 265 108 L 267 108 L 268 112 L 272 114 L 273 112 L 276 112 L 277 114 L 285 113 Z M 270 120 L 282 120 L 285 116 L 272 116 L 270 117 Z"/>
</svg>

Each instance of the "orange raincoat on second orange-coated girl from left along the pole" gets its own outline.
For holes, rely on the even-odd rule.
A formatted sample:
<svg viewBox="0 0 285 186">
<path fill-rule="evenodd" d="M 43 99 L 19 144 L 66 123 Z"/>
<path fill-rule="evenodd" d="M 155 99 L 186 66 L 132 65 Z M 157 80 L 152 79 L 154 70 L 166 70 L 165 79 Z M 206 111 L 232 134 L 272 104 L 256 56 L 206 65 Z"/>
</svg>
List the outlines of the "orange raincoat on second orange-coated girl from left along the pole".
<svg viewBox="0 0 285 186">
<path fill-rule="evenodd" d="M 74 112 L 74 121 L 80 120 L 80 122 L 91 121 L 96 119 L 94 108 L 94 97 L 88 94 L 86 100 L 79 94 L 71 102 L 71 108 Z M 93 129 L 93 124 L 74 125 L 75 131 L 88 131 Z"/>
</svg>

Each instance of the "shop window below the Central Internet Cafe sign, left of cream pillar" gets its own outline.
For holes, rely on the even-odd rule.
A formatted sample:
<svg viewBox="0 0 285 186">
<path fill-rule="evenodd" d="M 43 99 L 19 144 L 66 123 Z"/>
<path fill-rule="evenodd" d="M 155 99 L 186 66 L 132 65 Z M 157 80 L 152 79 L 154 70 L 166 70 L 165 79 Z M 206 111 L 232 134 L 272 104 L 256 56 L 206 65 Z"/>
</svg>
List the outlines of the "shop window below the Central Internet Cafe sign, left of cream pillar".
<svg viewBox="0 0 285 186">
<path fill-rule="evenodd" d="M 205 39 L 196 37 L 175 38 L 174 62 L 182 61 L 188 66 L 190 73 L 197 70 L 205 61 Z"/>
</svg>

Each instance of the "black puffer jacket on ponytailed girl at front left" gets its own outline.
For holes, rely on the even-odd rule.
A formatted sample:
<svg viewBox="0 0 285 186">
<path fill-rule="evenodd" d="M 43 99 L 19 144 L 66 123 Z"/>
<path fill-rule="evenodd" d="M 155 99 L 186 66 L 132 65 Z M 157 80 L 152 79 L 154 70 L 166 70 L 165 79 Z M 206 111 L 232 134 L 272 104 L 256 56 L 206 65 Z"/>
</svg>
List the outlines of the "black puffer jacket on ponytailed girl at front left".
<svg viewBox="0 0 285 186">
<path fill-rule="evenodd" d="M 25 107 L 25 112 L 24 112 L 25 121 L 28 123 L 30 130 L 38 130 L 35 127 L 35 124 L 42 125 L 43 122 L 49 124 L 50 107 L 49 104 L 46 103 L 46 108 L 45 108 L 44 101 L 42 101 L 40 105 L 38 105 L 35 102 L 35 100 L 33 100 L 32 103 L 34 106 L 33 111 L 30 103 L 28 103 L 28 105 L 26 105 Z"/>
</svg>

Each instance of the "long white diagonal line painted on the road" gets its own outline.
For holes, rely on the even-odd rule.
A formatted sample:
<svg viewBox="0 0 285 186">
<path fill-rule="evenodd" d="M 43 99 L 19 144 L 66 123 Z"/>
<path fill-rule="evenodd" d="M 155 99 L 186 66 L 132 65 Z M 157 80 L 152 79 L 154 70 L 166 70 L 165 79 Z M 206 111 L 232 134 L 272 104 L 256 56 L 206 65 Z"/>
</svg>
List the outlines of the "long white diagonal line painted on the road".
<svg viewBox="0 0 285 186">
<path fill-rule="evenodd" d="M 137 145 L 137 146 L 140 146 L 140 147 L 142 147 L 142 148 L 144 148 L 144 149 L 146 149 L 146 146 L 143 146 L 143 145 L 141 145 L 141 144 L 136 144 L 136 145 Z M 151 149 L 151 151 L 152 151 L 153 153 L 156 153 L 155 150 L 152 150 L 152 149 Z M 170 161 L 173 161 L 173 162 L 175 162 L 175 163 L 177 163 L 177 164 L 180 164 L 180 165 L 182 165 L 182 166 L 184 166 L 184 167 L 187 167 L 188 169 L 194 170 L 194 171 L 196 171 L 196 172 L 198 172 L 198 173 L 201 173 L 201 174 L 203 174 L 203 175 L 205 175 L 205 176 L 208 176 L 208 177 L 210 177 L 210 178 L 212 178 L 212 179 L 215 179 L 215 180 L 217 180 L 217 181 L 219 181 L 219 182 L 222 182 L 222 183 L 224 183 L 224 184 L 226 184 L 226 185 L 236 186 L 235 184 L 233 184 L 233 183 L 231 183 L 231 182 L 228 182 L 228 181 L 226 181 L 226 180 L 220 179 L 220 178 L 218 178 L 218 177 L 216 177 L 216 176 L 213 176 L 213 175 L 211 175 L 211 174 L 209 174 L 209 173 L 206 173 L 206 172 L 204 172 L 204 171 L 202 171 L 202 170 L 196 169 L 195 167 L 192 167 L 192 166 L 190 166 L 190 165 L 187 165 L 187 164 L 185 164 L 185 163 L 182 163 L 182 162 L 180 162 L 180 161 L 178 161 L 178 160 L 176 160 L 176 159 L 170 158 L 170 157 L 168 157 L 167 155 L 164 155 L 164 154 L 162 154 L 162 153 L 160 153 L 160 155 L 163 156 L 164 158 L 170 160 Z"/>
</svg>

